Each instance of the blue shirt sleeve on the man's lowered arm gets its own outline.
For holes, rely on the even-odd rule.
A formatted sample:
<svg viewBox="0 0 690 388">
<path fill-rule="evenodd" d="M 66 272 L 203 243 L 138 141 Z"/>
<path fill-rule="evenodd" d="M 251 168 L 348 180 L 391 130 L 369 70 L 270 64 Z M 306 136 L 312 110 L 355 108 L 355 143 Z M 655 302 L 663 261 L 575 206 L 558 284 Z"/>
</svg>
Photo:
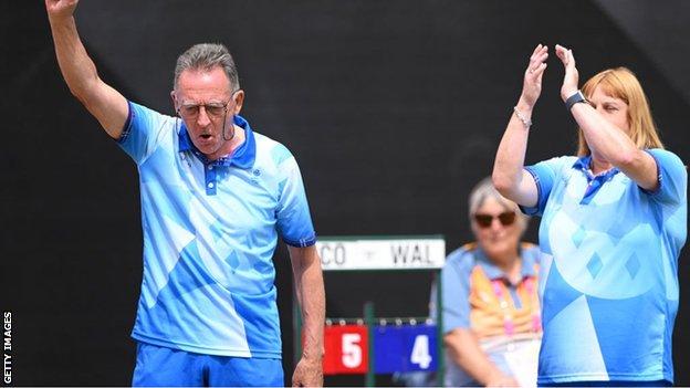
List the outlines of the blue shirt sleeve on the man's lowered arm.
<svg viewBox="0 0 690 388">
<path fill-rule="evenodd" d="M 297 161 L 288 148 L 279 146 L 278 231 L 286 244 L 297 248 L 316 243 L 306 192 Z"/>
</svg>

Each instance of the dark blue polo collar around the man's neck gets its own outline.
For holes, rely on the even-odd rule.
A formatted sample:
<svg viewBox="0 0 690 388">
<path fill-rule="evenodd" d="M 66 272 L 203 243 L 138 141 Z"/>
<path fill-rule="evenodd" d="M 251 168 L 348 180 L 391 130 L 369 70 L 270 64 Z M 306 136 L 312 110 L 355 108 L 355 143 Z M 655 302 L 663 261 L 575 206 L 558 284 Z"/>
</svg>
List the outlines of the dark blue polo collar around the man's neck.
<svg viewBox="0 0 690 388">
<path fill-rule="evenodd" d="M 230 157 L 222 157 L 218 160 L 209 160 L 209 158 L 207 158 L 206 155 L 203 155 L 189 138 L 185 122 L 182 122 L 181 128 L 178 133 L 180 153 L 191 151 L 205 165 L 226 167 L 236 166 L 242 169 L 251 168 L 257 159 L 257 140 L 254 138 L 254 133 L 252 132 L 249 122 L 240 115 L 234 115 L 233 123 L 244 129 L 244 141 L 232 153 L 232 155 L 230 155 Z"/>
</svg>

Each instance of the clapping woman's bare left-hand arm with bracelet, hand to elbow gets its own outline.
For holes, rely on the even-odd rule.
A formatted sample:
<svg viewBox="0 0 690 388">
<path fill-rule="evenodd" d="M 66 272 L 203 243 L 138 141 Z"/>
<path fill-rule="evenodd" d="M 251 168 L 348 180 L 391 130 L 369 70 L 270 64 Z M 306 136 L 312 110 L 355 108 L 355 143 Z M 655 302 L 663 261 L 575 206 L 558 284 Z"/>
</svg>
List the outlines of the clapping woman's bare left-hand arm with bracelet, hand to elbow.
<svg viewBox="0 0 690 388">
<path fill-rule="evenodd" d="M 548 49 L 537 45 L 524 73 L 522 94 L 508 123 L 496 151 L 492 180 L 503 197 L 526 207 L 537 201 L 534 178 L 523 169 L 527 137 L 532 125 L 532 109 L 542 93 L 542 75 L 546 70 Z"/>
</svg>

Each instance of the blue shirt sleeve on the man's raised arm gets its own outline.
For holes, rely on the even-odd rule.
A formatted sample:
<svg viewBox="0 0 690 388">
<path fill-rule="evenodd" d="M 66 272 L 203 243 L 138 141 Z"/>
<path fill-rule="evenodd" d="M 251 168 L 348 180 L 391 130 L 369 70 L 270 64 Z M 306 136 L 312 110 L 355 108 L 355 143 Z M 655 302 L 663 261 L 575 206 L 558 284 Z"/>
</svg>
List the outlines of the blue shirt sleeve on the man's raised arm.
<svg viewBox="0 0 690 388">
<path fill-rule="evenodd" d="M 117 144 L 137 165 L 142 165 L 158 146 L 160 135 L 176 128 L 176 119 L 133 102 L 127 103 L 129 114 Z"/>
</svg>

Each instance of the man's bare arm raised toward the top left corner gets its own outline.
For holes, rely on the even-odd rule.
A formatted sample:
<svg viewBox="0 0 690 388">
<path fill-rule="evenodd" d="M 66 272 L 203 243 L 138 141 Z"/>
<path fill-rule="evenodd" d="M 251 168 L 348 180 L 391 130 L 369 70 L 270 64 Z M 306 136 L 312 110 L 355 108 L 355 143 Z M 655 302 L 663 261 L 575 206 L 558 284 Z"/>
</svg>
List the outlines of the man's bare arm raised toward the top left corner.
<svg viewBox="0 0 690 388">
<path fill-rule="evenodd" d="M 122 135 L 128 107 L 125 97 L 105 84 L 76 32 L 74 10 L 79 0 L 45 0 L 55 55 L 70 92 L 96 117 L 111 137 Z"/>
</svg>

